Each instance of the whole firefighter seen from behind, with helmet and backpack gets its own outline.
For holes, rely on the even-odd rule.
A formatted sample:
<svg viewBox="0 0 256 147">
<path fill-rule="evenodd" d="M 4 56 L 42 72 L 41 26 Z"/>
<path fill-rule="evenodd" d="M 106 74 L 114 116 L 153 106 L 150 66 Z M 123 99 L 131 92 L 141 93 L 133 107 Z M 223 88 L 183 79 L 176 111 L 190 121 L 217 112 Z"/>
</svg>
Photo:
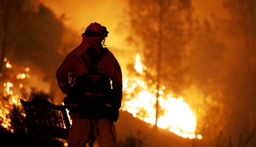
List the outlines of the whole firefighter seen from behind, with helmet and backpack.
<svg viewBox="0 0 256 147">
<path fill-rule="evenodd" d="M 106 27 L 94 22 L 82 34 L 82 43 L 72 50 L 57 69 L 61 91 L 67 94 L 72 126 L 70 147 L 84 147 L 94 136 L 100 147 L 115 147 L 114 123 L 122 100 L 122 73 L 114 55 L 103 45 Z M 73 83 L 68 75 L 72 73 Z"/>
</svg>

